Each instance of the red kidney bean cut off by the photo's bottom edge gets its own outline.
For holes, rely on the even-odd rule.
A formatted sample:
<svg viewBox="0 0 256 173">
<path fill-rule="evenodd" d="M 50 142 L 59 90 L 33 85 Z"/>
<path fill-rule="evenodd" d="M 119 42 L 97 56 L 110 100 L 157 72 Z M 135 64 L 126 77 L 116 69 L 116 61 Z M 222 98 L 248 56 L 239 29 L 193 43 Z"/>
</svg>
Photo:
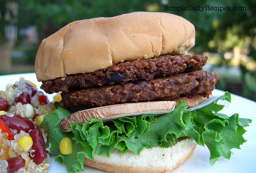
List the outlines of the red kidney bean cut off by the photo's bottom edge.
<svg viewBox="0 0 256 173">
<path fill-rule="evenodd" d="M 22 157 L 12 157 L 7 159 L 8 167 L 7 173 L 14 173 L 22 167 L 25 167 L 25 160 Z"/>
</svg>

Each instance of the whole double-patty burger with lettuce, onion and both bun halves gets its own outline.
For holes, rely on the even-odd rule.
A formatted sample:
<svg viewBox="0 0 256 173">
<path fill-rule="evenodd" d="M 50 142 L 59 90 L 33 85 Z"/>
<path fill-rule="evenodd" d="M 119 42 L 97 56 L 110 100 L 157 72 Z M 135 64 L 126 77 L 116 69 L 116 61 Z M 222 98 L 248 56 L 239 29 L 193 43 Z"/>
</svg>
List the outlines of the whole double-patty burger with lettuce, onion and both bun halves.
<svg viewBox="0 0 256 173">
<path fill-rule="evenodd" d="M 187 54 L 194 42 L 189 21 L 150 12 L 75 21 L 44 39 L 36 77 L 46 93 L 62 96 L 41 123 L 55 160 L 68 172 L 85 164 L 115 173 L 167 173 L 197 144 L 209 148 L 211 164 L 229 159 L 246 141 L 243 127 L 250 121 L 218 113 L 223 105 L 217 101 L 230 101 L 230 93 L 210 97 L 219 77 L 202 70 L 207 56 Z M 71 154 L 60 151 L 65 137 Z"/>
</svg>

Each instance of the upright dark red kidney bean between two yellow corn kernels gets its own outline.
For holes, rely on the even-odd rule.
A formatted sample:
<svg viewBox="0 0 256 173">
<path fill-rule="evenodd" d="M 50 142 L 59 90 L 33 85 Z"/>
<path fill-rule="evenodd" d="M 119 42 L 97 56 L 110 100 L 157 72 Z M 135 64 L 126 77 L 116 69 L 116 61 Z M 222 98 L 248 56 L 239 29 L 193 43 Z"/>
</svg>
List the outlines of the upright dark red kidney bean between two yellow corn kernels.
<svg viewBox="0 0 256 173">
<path fill-rule="evenodd" d="M 30 152 L 30 157 L 36 164 L 43 163 L 47 156 L 43 133 L 38 128 L 35 128 L 29 134 L 33 141 L 32 150 L 35 150 L 34 152 Z"/>
</svg>

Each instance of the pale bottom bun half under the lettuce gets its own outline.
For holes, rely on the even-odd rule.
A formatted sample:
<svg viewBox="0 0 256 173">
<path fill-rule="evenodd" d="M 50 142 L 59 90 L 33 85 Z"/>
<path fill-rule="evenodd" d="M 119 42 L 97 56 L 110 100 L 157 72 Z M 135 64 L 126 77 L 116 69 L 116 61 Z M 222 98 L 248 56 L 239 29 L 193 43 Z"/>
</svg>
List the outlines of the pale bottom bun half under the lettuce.
<svg viewBox="0 0 256 173">
<path fill-rule="evenodd" d="M 168 148 L 144 148 L 140 155 L 113 149 L 110 157 L 95 154 L 95 160 L 85 158 L 84 164 L 111 173 L 169 173 L 184 164 L 196 147 L 194 139 L 184 138 Z"/>
</svg>

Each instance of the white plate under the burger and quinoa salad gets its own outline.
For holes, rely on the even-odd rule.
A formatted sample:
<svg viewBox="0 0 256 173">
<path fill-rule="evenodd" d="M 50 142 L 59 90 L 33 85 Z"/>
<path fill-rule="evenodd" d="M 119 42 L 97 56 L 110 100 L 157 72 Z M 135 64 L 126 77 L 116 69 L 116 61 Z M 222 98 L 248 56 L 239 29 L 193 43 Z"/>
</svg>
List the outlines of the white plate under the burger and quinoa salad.
<svg viewBox="0 0 256 173">
<path fill-rule="evenodd" d="M 5 86 L 8 83 L 14 83 L 19 80 L 20 77 L 24 77 L 26 80 L 30 80 L 38 87 L 41 85 L 36 80 L 36 76 L 33 73 L 30 74 L 14 74 L 0 76 L 0 90 L 5 90 Z M 214 90 L 213 95 L 223 94 L 223 91 Z M 49 99 L 53 99 L 53 94 L 48 95 Z M 197 146 L 193 156 L 187 160 L 187 162 L 174 170 L 172 173 L 255 173 L 256 170 L 256 102 L 245 99 L 240 96 L 232 94 L 232 104 L 228 109 L 222 112 L 227 115 L 233 115 L 239 113 L 240 118 L 253 119 L 253 122 L 249 127 L 246 127 L 247 132 L 244 135 L 248 141 L 241 146 L 241 150 L 233 149 L 233 155 L 230 160 L 220 158 L 213 166 L 209 163 L 210 152 L 206 147 Z M 66 173 L 66 167 L 62 164 L 54 162 L 54 156 L 52 156 L 53 163 L 49 167 L 48 173 Z M 90 167 L 85 167 L 86 173 L 106 173 L 105 171 L 97 170 Z"/>
</svg>

